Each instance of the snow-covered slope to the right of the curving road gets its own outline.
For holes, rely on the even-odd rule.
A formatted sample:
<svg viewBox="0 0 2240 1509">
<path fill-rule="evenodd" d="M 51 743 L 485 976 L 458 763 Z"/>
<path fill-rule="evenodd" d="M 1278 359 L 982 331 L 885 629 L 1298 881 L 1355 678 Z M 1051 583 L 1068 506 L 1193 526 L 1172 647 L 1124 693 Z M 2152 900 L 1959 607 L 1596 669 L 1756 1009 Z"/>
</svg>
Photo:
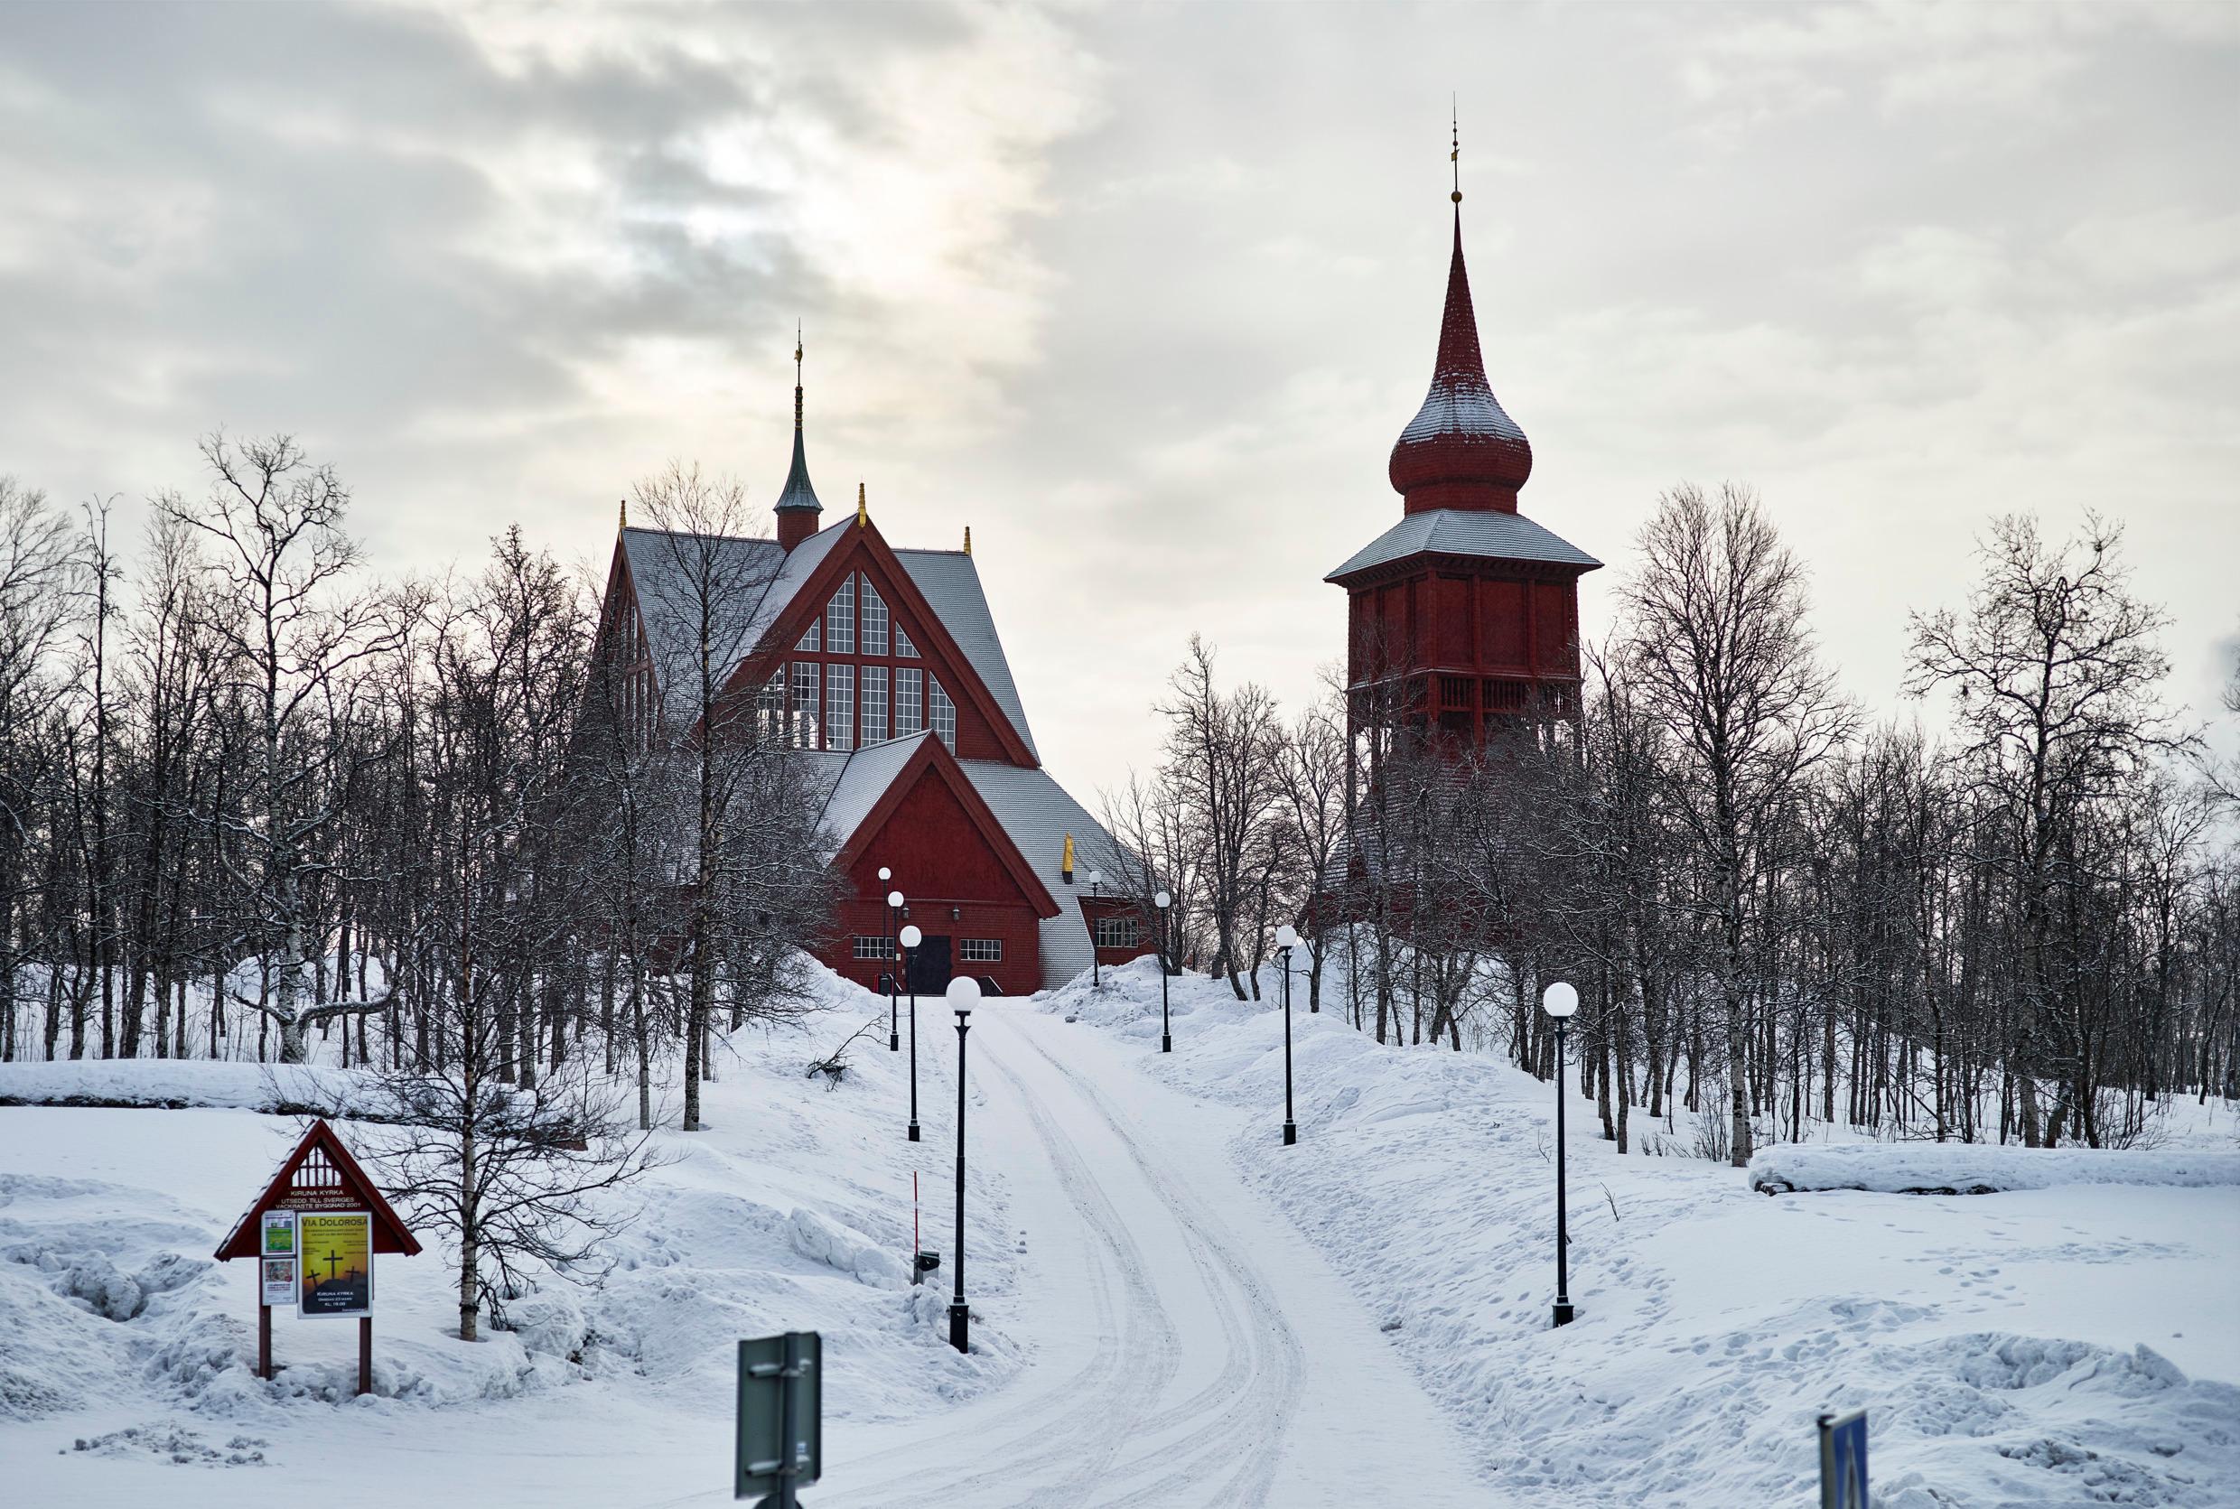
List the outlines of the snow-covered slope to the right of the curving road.
<svg viewBox="0 0 2240 1509">
<path fill-rule="evenodd" d="M 1814 1415 L 1852 1406 L 1870 1410 L 1884 1509 L 2240 1502 L 2231 1182 L 1763 1198 L 1723 1164 L 1617 1155 L 1575 1097 L 1579 1316 L 1552 1330 L 1557 1088 L 1378 1046 L 1335 999 L 1308 1014 L 1292 990 L 1290 1149 L 1279 978 L 1261 1003 L 1169 981 L 1174 1055 L 1149 960 L 1042 1005 L 1248 1110 L 1239 1173 L 1483 1442 L 1496 1502 L 1812 1502 Z M 1904 1151 L 1864 1146 L 1861 1166 Z"/>
</svg>

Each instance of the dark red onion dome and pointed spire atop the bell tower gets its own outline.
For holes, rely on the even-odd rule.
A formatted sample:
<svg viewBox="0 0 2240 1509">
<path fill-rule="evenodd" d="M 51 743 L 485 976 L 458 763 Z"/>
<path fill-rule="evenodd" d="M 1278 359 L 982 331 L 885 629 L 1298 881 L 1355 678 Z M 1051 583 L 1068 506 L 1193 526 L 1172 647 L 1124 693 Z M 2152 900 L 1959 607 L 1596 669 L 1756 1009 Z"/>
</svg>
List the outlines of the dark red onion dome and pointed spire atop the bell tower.
<svg viewBox="0 0 2240 1509">
<path fill-rule="evenodd" d="M 1391 481 L 1407 513 L 1492 508 L 1516 513 L 1516 488 L 1532 475 L 1532 441 L 1508 416 L 1485 381 L 1478 316 L 1463 264 L 1463 143 L 1456 132 L 1454 257 L 1447 264 L 1447 313 L 1438 325 L 1431 392 L 1393 446 Z"/>
</svg>

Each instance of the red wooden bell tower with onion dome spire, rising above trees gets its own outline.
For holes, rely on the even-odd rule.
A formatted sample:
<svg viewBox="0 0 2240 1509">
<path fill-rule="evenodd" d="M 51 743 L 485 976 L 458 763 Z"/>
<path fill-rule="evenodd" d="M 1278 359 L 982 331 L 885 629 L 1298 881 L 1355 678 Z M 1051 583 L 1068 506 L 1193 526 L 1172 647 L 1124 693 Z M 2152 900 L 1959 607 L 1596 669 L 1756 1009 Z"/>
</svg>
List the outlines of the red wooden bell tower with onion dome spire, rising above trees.
<svg viewBox="0 0 2240 1509">
<path fill-rule="evenodd" d="M 1485 381 L 1463 264 L 1460 148 L 1454 257 L 1431 392 L 1400 430 L 1400 522 L 1328 582 L 1346 589 L 1353 723 L 1481 743 L 1519 716 L 1579 705 L 1579 578 L 1602 566 L 1516 510 L 1532 443 Z"/>
</svg>

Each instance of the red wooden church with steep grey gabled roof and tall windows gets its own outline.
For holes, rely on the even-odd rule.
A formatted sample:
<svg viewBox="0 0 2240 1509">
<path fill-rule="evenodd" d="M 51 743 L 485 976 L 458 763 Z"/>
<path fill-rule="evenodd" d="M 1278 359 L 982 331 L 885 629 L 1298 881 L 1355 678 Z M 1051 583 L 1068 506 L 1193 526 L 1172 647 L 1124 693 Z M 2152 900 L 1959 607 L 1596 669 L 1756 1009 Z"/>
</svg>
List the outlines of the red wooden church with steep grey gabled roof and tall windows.
<svg viewBox="0 0 2240 1509">
<path fill-rule="evenodd" d="M 795 360 L 800 354 L 795 352 Z M 1133 909 L 1071 869 L 1068 837 L 1104 851 L 1104 831 L 1042 768 L 1004 640 L 988 611 L 972 533 L 959 551 L 900 549 L 858 506 L 824 524 L 809 481 L 802 387 L 793 387 L 793 468 L 775 540 L 726 540 L 755 593 L 741 665 L 759 681 L 759 719 L 813 768 L 829 862 L 844 900 L 820 958 L 878 985 L 892 965 L 885 896 L 907 898 L 925 936 L 921 992 L 972 974 L 1006 994 L 1060 985 L 1149 949 Z M 668 535 L 620 531 L 598 645 L 625 687 L 625 719 L 650 728 L 661 667 L 683 625 L 663 602 L 679 551 Z M 892 880 L 878 878 L 880 869 Z"/>
</svg>

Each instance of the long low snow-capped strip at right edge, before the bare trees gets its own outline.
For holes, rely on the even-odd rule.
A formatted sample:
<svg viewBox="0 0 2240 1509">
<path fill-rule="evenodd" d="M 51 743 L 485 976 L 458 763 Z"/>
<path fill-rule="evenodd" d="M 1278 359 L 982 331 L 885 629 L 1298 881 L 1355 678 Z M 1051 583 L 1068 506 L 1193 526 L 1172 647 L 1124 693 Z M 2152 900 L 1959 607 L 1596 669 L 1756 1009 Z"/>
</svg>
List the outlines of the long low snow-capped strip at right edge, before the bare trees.
<svg viewBox="0 0 2240 1509">
<path fill-rule="evenodd" d="M 1770 1196 L 1799 1189 L 1866 1189 L 1891 1196 L 1989 1196 L 2056 1184 L 2240 1184 L 2240 1153 L 2023 1149 L 1982 1142 L 1848 1142 L 1765 1149 L 1749 1160 L 1749 1187 Z"/>
</svg>

